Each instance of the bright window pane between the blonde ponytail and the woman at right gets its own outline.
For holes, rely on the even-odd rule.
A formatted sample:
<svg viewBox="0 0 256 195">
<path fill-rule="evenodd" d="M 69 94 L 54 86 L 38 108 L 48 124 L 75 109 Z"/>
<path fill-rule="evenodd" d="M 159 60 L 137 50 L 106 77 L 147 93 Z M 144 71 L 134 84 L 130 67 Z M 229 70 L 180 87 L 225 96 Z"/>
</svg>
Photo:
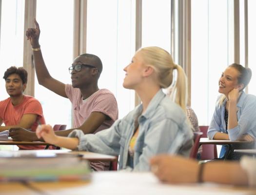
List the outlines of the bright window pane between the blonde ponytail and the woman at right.
<svg viewBox="0 0 256 195">
<path fill-rule="evenodd" d="M 209 125 L 218 79 L 233 63 L 232 5 L 224 0 L 191 1 L 191 106 L 199 125 Z"/>
</svg>

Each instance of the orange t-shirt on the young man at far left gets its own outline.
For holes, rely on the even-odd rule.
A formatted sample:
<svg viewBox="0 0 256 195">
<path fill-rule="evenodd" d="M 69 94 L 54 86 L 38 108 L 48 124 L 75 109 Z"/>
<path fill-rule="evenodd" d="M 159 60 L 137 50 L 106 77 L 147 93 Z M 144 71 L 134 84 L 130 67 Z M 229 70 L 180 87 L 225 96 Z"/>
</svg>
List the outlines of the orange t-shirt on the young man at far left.
<svg viewBox="0 0 256 195">
<path fill-rule="evenodd" d="M 42 106 L 40 102 L 31 97 L 24 95 L 23 101 L 14 106 L 11 98 L 7 98 L 0 101 L 0 118 L 2 119 L 5 126 L 17 125 L 20 123 L 20 119 L 25 114 L 37 115 L 37 120 L 31 126 L 32 131 L 36 131 L 38 124 L 45 124 L 45 120 L 42 113 Z M 24 146 L 19 145 L 20 149 L 44 149 L 45 146 Z"/>
</svg>

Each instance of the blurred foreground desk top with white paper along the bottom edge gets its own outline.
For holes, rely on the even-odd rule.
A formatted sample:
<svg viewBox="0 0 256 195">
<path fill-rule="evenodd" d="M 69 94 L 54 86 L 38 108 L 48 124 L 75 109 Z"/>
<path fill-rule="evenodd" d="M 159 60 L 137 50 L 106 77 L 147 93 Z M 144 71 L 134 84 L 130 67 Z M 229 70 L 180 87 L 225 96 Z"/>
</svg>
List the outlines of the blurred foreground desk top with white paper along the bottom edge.
<svg viewBox="0 0 256 195">
<path fill-rule="evenodd" d="M 86 182 L 31 182 L 50 195 L 255 195 L 256 189 L 217 184 L 163 184 L 152 173 L 95 172 Z"/>
</svg>

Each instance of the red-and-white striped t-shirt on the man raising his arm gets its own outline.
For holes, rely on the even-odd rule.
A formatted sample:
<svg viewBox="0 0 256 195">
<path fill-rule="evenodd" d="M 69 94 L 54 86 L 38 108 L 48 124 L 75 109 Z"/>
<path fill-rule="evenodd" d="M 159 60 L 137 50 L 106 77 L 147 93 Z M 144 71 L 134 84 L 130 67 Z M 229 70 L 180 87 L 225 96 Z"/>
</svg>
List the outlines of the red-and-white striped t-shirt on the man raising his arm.
<svg viewBox="0 0 256 195">
<path fill-rule="evenodd" d="M 100 112 L 110 118 L 109 120 L 105 120 L 94 133 L 103 129 L 108 129 L 114 121 L 118 119 L 117 100 L 109 90 L 99 89 L 90 97 L 83 99 L 78 88 L 74 88 L 72 85 L 66 84 L 65 92 L 72 103 L 74 128 L 79 128 L 92 112 Z M 97 171 L 108 170 L 109 162 L 94 162 L 91 163 L 91 166 Z"/>
</svg>

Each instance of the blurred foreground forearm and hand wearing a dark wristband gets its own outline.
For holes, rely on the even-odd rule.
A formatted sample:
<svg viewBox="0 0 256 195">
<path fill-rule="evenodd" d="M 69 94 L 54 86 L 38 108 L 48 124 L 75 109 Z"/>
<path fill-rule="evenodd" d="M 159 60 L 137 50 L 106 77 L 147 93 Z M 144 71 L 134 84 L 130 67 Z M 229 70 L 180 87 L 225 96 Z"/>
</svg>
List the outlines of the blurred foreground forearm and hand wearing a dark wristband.
<svg viewBox="0 0 256 195">
<path fill-rule="evenodd" d="M 256 168 L 251 167 L 256 161 L 253 158 L 242 159 L 242 161 L 246 166 L 237 161 L 222 160 L 199 165 L 194 159 L 159 155 L 153 157 L 150 163 L 152 172 L 159 180 L 167 183 L 215 182 L 233 185 L 250 184 L 256 187 L 256 180 L 254 180 Z M 244 167 L 250 167 L 251 170 L 246 170 Z M 251 176 L 248 173 L 251 173 Z"/>
</svg>

